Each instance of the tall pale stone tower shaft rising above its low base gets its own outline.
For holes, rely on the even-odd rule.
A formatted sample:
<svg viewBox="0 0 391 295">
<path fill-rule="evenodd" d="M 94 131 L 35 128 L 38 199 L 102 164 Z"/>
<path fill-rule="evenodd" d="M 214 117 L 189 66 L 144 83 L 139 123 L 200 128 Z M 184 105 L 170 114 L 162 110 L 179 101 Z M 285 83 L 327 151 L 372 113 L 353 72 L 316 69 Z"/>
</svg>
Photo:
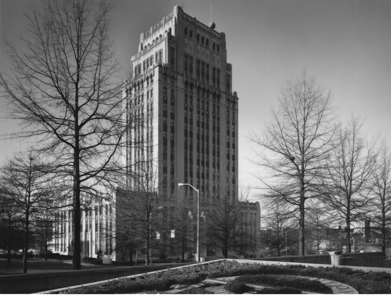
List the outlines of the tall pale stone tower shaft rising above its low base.
<svg viewBox="0 0 391 295">
<path fill-rule="evenodd" d="M 198 188 L 205 210 L 238 199 L 238 98 L 225 34 L 175 6 L 141 33 L 131 72 L 127 116 L 139 122 L 127 135 L 129 175 L 156 176 L 165 206 L 193 207 L 196 192 L 178 183 Z"/>
</svg>

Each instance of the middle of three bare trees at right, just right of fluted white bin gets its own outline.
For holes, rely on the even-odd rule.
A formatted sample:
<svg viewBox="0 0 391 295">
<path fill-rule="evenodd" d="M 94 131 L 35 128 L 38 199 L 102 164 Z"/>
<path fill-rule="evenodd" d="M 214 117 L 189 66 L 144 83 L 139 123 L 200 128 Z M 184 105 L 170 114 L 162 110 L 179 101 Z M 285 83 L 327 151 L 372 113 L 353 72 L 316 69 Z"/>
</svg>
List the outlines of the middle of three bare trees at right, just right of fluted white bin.
<svg viewBox="0 0 391 295">
<path fill-rule="evenodd" d="M 348 127 L 338 130 L 339 144 L 329 154 L 324 188 L 325 203 L 346 223 L 347 252 L 351 252 L 351 222 L 365 216 L 371 180 L 376 162 L 375 144 L 367 143 L 361 131 L 362 122 L 352 118 Z"/>
</svg>

